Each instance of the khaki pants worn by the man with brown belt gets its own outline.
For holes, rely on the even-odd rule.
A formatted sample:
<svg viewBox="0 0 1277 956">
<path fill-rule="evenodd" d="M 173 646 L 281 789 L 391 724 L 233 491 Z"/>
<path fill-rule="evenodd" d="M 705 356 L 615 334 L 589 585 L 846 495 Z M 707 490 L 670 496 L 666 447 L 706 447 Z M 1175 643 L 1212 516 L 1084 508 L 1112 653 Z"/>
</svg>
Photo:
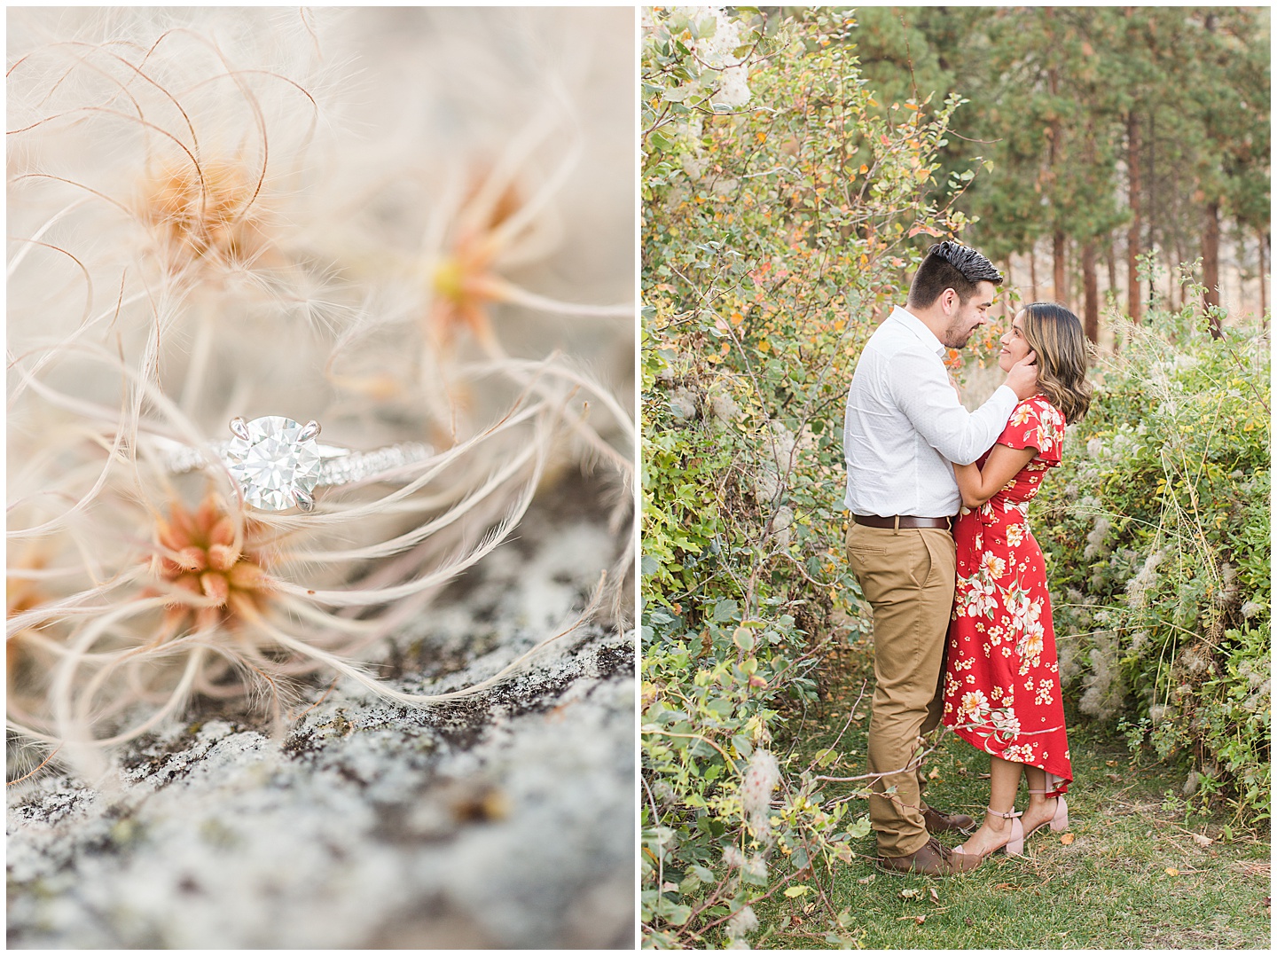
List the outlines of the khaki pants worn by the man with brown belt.
<svg viewBox="0 0 1277 956">
<path fill-rule="evenodd" d="M 870 772 L 909 767 L 918 736 L 940 725 L 945 636 L 954 602 L 954 539 L 944 528 L 847 532 L 852 571 L 873 608 L 873 716 Z M 930 836 L 922 819 L 921 766 L 873 781 L 870 821 L 879 854 L 907 856 Z M 885 794 L 890 788 L 894 793 Z"/>
</svg>

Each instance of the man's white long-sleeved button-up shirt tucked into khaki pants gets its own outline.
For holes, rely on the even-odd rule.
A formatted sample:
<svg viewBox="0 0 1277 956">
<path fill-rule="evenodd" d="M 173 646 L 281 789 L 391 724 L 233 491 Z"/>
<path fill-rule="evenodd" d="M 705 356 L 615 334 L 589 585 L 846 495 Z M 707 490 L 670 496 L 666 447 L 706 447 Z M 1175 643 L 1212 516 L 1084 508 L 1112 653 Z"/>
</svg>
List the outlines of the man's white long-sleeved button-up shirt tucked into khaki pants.
<svg viewBox="0 0 1277 956">
<path fill-rule="evenodd" d="M 847 394 L 845 504 L 854 514 L 944 518 L 962 505 L 950 462 L 969 465 L 1001 434 L 1019 400 L 999 387 L 968 412 L 949 384 L 945 347 L 896 309 L 861 352 Z"/>
</svg>

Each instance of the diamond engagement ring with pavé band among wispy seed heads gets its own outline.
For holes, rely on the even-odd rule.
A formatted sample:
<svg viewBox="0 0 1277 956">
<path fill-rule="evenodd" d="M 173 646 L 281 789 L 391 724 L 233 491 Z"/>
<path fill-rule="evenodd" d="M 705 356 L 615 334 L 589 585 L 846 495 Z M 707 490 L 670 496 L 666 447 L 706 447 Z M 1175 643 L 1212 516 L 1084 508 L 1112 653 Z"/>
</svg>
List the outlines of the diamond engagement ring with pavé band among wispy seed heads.
<svg viewBox="0 0 1277 956">
<path fill-rule="evenodd" d="M 262 511 L 314 508 L 317 488 L 349 485 L 425 461 L 434 449 L 409 442 L 372 452 L 319 444 L 319 422 L 304 425 L 281 415 L 252 421 L 231 420 L 225 442 L 192 448 L 161 438 L 166 468 L 180 475 L 221 461 L 239 485 L 244 500 Z M 212 456 L 212 458 L 209 458 Z M 391 477 L 387 475 L 387 477 Z"/>
</svg>

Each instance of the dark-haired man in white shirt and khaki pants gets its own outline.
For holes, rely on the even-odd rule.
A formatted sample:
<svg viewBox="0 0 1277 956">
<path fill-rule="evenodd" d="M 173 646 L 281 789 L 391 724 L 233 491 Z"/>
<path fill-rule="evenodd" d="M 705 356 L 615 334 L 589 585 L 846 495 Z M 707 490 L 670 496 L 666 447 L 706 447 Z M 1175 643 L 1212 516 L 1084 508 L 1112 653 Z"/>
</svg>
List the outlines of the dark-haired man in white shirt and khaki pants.
<svg viewBox="0 0 1277 956">
<path fill-rule="evenodd" d="M 1015 406 L 1037 391 L 1032 352 L 976 412 L 962 407 L 945 370 L 945 350 L 962 348 L 985 324 L 1001 283 L 974 249 L 932 246 L 905 306 L 866 343 L 847 396 L 847 548 L 873 608 L 870 772 L 884 775 L 873 782 L 870 819 L 880 864 L 894 872 L 940 876 L 981 862 L 950 855 L 932 836 L 974 821 L 927 807 L 921 766 L 911 762 L 918 736 L 941 716 L 955 578 L 950 521 L 962 505 L 951 462 L 969 465 L 991 448 Z"/>
</svg>

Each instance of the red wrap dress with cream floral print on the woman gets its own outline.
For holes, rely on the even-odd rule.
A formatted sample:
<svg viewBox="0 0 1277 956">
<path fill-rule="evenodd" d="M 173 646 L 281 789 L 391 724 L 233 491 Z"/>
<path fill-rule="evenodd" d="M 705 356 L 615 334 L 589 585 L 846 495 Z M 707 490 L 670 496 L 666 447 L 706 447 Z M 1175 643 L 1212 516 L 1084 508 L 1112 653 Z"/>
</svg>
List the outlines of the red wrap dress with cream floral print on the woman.
<svg viewBox="0 0 1277 956">
<path fill-rule="evenodd" d="M 954 523 L 958 585 L 944 689 L 945 724 L 981 751 L 1045 770 L 1050 795 L 1068 790 L 1073 767 L 1051 595 L 1025 514 L 1047 470 L 1060 463 L 1062 442 L 1064 415 L 1046 398 L 1015 406 L 997 443 L 1037 448 L 1037 457 Z"/>
</svg>

